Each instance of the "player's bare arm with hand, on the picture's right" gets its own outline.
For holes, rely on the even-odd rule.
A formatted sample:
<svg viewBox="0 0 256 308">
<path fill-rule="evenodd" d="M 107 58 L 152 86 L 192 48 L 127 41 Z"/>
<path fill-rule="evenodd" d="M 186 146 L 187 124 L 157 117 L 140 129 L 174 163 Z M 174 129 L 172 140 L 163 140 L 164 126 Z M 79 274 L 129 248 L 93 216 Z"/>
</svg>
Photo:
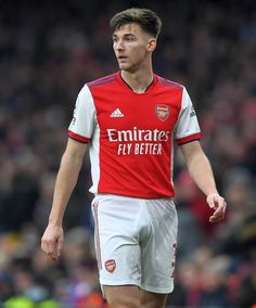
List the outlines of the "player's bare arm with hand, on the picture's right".
<svg viewBox="0 0 256 308">
<path fill-rule="evenodd" d="M 217 191 L 209 161 L 204 154 L 200 142 L 192 141 L 182 144 L 180 149 L 191 177 L 206 195 L 209 207 L 215 209 L 214 214 L 209 217 L 209 221 L 218 222 L 222 220 L 227 204 Z"/>
</svg>

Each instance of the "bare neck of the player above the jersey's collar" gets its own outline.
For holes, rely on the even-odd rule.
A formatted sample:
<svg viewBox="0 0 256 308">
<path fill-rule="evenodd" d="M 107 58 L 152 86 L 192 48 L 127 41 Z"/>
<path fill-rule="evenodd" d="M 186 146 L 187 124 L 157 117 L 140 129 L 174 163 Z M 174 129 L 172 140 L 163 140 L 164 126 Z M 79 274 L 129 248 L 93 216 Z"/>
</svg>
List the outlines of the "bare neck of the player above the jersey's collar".
<svg viewBox="0 0 256 308">
<path fill-rule="evenodd" d="M 144 93 L 154 79 L 152 69 L 149 72 L 129 73 L 127 70 L 120 72 L 121 78 L 136 93 Z"/>
</svg>

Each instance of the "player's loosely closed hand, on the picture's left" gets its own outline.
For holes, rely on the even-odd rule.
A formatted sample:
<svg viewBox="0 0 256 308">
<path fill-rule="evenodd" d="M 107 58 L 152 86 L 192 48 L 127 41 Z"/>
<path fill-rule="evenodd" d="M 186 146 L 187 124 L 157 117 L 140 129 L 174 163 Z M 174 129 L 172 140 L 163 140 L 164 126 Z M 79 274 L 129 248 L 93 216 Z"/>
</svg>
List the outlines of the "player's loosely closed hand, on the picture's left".
<svg viewBox="0 0 256 308">
<path fill-rule="evenodd" d="M 48 224 L 42 239 L 41 249 L 53 260 L 59 260 L 63 245 L 63 228 Z"/>
</svg>

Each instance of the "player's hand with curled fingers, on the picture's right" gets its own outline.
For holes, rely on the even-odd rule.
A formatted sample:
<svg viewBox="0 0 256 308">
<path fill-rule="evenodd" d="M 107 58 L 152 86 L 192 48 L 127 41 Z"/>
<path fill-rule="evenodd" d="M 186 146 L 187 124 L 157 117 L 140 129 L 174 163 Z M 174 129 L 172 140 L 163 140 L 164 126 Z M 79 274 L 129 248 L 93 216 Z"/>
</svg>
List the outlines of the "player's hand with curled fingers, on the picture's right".
<svg viewBox="0 0 256 308">
<path fill-rule="evenodd" d="M 218 193 L 210 193 L 206 198 L 210 208 L 215 209 L 214 214 L 209 217 L 209 222 L 219 222 L 223 220 L 227 203 Z"/>
</svg>

